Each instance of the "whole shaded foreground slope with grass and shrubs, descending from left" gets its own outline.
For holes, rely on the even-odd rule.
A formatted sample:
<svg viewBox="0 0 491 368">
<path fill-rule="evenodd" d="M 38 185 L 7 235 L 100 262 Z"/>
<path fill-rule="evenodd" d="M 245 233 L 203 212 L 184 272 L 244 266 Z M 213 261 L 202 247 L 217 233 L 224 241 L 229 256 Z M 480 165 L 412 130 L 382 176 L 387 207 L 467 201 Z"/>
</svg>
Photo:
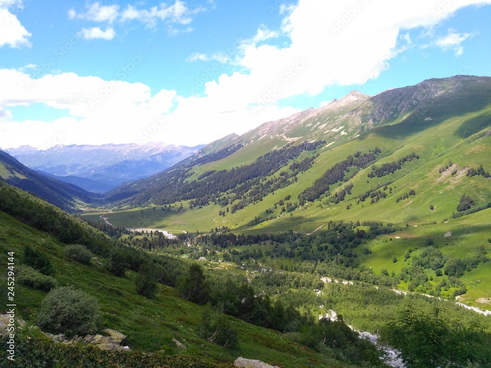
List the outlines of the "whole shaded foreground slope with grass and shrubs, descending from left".
<svg viewBox="0 0 491 368">
<path fill-rule="evenodd" d="M 30 224 L 22 223 L 16 217 Z M 137 272 L 128 270 L 125 276 L 116 277 L 105 267 L 111 254 L 118 249 L 115 241 L 39 198 L 2 183 L 0 229 L 2 252 L 14 252 L 16 269 L 23 263 L 22 255 L 27 245 L 41 252 L 53 265 L 54 277 L 59 286 L 82 289 L 98 300 L 102 309 L 100 330 L 104 327 L 115 329 L 128 336 L 126 343 L 132 350 L 150 354 L 140 357 L 142 366 L 145 366 L 147 359 L 159 362 L 162 358 L 161 364 L 165 363 L 168 367 L 229 367 L 238 356 L 243 356 L 276 362 L 283 367 L 352 367 L 301 346 L 282 333 L 250 325 L 226 315 L 225 320 L 238 333 L 239 346 L 230 349 L 207 341 L 199 332 L 201 316 L 207 307 L 183 300 L 177 290 L 160 283 L 155 299 L 136 294 Z M 64 249 L 73 242 L 84 244 L 97 257 L 90 264 L 78 263 L 66 257 Z M 157 259 L 156 256 L 145 256 L 144 252 L 130 252 L 133 255 L 132 263 L 141 261 L 142 257 Z M 169 257 L 166 259 L 170 260 Z M 0 262 L 6 269 L 6 258 Z M 175 262 L 187 264 L 185 261 Z M 34 318 L 46 292 L 21 285 L 20 282 L 16 284 L 15 291 L 17 316 L 26 320 Z M 2 305 L 5 306 L 6 293 L 2 295 Z M 5 307 L 0 312 L 5 313 Z M 21 339 L 21 336 L 25 338 L 26 335 L 19 335 L 17 339 Z M 183 342 L 187 350 L 176 347 L 172 339 Z M 73 353 L 73 356 L 82 354 L 83 358 L 83 351 L 91 355 L 87 358 L 89 360 L 94 356 L 99 357 L 98 353 L 90 350 Z M 111 357 L 114 361 L 119 359 L 114 355 L 100 354 L 105 362 Z M 194 359 L 196 357 L 199 359 Z M 62 356 L 58 358 L 62 359 Z M 69 363 L 73 366 L 76 364 Z"/>
</svg>

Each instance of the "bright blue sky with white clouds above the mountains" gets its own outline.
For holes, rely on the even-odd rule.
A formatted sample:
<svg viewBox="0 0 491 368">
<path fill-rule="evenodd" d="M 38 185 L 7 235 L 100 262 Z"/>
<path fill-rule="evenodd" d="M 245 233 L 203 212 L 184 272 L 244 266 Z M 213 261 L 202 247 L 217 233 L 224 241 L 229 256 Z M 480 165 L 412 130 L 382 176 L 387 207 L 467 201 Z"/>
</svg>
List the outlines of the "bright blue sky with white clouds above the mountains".
<svg viewBox="0 0 491 368">
<path fill-rule="evenodd" d="M 0 147 L 194 146 L 491 76 L 491 0 L 0 0 Z"/>
</svg>

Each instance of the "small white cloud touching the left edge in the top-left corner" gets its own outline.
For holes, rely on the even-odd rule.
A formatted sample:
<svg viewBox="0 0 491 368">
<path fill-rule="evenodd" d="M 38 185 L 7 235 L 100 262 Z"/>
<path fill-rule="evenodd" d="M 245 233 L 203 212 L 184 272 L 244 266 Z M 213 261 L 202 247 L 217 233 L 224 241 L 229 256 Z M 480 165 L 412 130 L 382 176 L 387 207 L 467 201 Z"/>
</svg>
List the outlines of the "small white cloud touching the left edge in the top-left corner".
<svg viewBox="0 0 491 368">
<path fill-rule="evenodd" d="M 29 47 L 31 33 L 27 32 L 17 16 L 8 10 L 12 5 L 20 7 L 22 3 L 17 0 L 0 0 L 0 47 L 4 45 L 11 48 Z"/>
</svg>

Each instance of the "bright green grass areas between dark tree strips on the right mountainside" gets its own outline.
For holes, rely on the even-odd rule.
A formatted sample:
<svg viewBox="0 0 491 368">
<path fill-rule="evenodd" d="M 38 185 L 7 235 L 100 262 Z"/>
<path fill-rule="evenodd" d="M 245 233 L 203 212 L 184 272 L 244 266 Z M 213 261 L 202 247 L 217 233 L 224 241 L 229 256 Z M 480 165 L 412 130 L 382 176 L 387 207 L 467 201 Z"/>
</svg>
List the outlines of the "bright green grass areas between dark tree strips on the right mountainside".
<svg viewBox="0 0 491 368">
<path fill-rule="evenodd" d="M 289 229 L 311 233 L 330 220 L 378 220 L 404 227 L 408 224 L 410 227 L 405 228 L 402 234 L 392 235 L 392 237 L 401 237 L 397 242 L 385 243 L 389 237 L 382 238 L 382 243 L 374 242 L 371 245 L 374 252 L 369 257 L 360 257 L 363 263 L 372 266 L 376 272 L 380 272 L 382 268 L 386 268 L 389 272 L 400 271 L 404 265 L 406 251 L 409 248 L 421 248 L 427 237 L 434 238 L 436 244 L 442 246 L 442 252 L 452 257 L 462 258 L 472 255 L 476 252 L 478 245 L 485 245 L 489 249 L 490 243 L 487 242 L 487 239 L 491 237 L 490 210 L 451 219 L 462 194 L 470 195 L 478 205 L 491 201 L 491 180 L 481 176 L 471 178 L 465 176 L 469 166 L 483 165 L 486 171 L 491 171 L 489 160 L 491 105 L 464 114 L 453 113 L 461 107 L 437 105 L 425 114 L 425 116 L 433 116 L 433 120 L 416 121 L 413 116 L 409 116 L 403 121 L 392 122 L 392 125 L 379 126 L 344 144 L 335 144 L 320 149 L 318 150 L 320 156 L 315 159 L 313 167 L 300 174 L 297 183 L 279 189 L 274 194 L 267 195 L 263 201 L 249 205 L 234 214 L 227 213 L 226 216 L 219 217 L 218 211 L 222 209 L 215 205 L 206 206 L 203 209 L 187 210 L 188 206 L 184 203 L 185 210 L 179 215 L 175 210 L 164 213 L 158 210 L 144 210 L 143 219 L 147 219 L 149 223 L 145 227 L 208 231 L 215 226 L 228 226 L 234 232 L 250 234 L 274 233 Z M 201 173 L 209 169 L 228 168 L 250 162 L 251 157 L 257 157 L 260 152 L 264 152 L 262 151 L 264 147 L 259 149 L 258 142 L 224 160 L 208 164 L 206 169 L 198 168 L 197 170 L 200 170 Z M 269 144 L 276 145 L 276 142 Z M 382 149 L 384 156 L 376 163 L 376 166 L 380 166 L 383 162 L 397 160 L 412 152 L 419 155 L 420 159 L 406 162 L 402 170 L 382 178 L 369 179 L 367 174 L 371 169 L 361 170 L 350 180 L 350 183 L 354 184 L 352 195 L 348 195 L 347 200 L 338 205 L 327 205 L 323 203 L 325 201 L 323 199 L 307 203 L 302 208 L 282 215 L 278 206 L 273 212 L 273 215 L 277 216 L 276 219 L 255 226 L 248 225 L 255 216 L 265 218 L 267 216 L 265 211 L 274 208 L 274 203 L 286 195 L 291 195 L 290 201 L 295 202 L 298 193 L 312 185 L 336 162 L 345 159 L 357 150 L 366 152 L 375 146 Z M 251 155 L 249 159 L 247 155 Z M 302 155 L 306 156 L 307 153 Z M 439 173 L 438 170 L 448 165 L 449 161 L 452 161 L 452 167 Z M 288 171 L 288 165 L 281 170 Z M 457 170 L 457 173 L 451 175 L 454 170 Z M 391 194 L 388 193 L 388 189 L 386 190 L 387 198 L 373 205 L 370 204 L 370 198 L 363 203 L 356 204 L 357 198 L 355 197 L 359 193 L 386 182 L 391 182 L 389 186 L 393 188 Z M 341 184 L 339 188 L 342 185 L 344 184 Z M 334 193 L 339 188 L 331 187 L 330 190 Z M 396 203 L 396 198 L 409 192 L 409 189 L 414 189 L 416 196 Z M 350 210 L 346 210 L 348 204 L 352 204 Z M 434 210 L 430 210 L 430 205 L 434 206 Z M 141 227 L 136 226 L 138 221 L 141 223 L 140 209 L 113 212 L 107 217 L 115 225 Z M 93 215 L 87 218 L 100 220 Z M 448 222 L 442 223 L 445 219 L 448 219 Z M 433 222 L 436 224 L 421 226 Z M 453 236 L 443 239 L 442 236 L 447 231 L 452 231 Z M 394 255 L 400 262 L 392 263 Z M 473 303 L 479 297 L 490 296 L 490 276 L 487 276 L 491 274 L 490 267 L 490 263 L 484 264 L 463 276 L 462 280 L 469 289 L 463 298 L 469 303 Z M 429 274 L 429 276 L 432 275 Z M 433 276 L 436 283 L 439 279 Z"/>
</svg>

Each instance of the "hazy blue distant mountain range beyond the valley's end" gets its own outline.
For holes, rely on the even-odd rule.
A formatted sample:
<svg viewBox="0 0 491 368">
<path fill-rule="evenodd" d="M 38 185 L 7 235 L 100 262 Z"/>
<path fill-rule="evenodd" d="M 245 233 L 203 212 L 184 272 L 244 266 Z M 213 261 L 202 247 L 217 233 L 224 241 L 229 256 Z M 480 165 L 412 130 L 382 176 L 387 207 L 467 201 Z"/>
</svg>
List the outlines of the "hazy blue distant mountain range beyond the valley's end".
<svg viewBox="0 0 491 368">
<path fill-rule="evenodd" d="M 149 142 L 144 145 L 57 145 L 47 150 L 21 146 L 5 152 L 33 170 L 55 175 L 59 180 L 89 191 L 104 192 L 118 184 L 161 172 L 203 147 Z"/>
</svg>

